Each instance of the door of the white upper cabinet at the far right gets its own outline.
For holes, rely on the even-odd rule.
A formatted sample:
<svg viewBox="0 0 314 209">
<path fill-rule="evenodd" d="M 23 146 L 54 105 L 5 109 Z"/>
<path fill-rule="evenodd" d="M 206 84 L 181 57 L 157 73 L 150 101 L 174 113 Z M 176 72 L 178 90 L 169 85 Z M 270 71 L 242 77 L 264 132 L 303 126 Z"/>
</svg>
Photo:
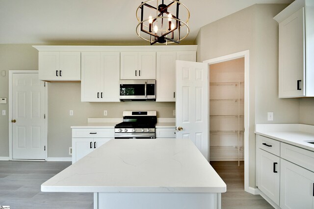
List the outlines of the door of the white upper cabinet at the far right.
<svg viewBox="0 0 314 209">
<path fill-rule="evenodd" d="M 301 8 L 279 23 L 279 98 L 305 96 L 305 21 Z"/>
</svg>

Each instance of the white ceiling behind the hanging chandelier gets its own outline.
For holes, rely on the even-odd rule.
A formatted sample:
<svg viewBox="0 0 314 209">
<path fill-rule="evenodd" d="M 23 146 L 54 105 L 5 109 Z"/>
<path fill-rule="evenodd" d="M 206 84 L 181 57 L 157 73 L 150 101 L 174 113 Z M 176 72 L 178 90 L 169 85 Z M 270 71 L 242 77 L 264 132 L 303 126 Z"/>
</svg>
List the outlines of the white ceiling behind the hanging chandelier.
<svg viewBox="0 0 314 209">
<path fill-rule="evenodd" d="M 190 10 L 190 34 L 255 3 L 293 0 L 181 0 Z M 137 37 L 141 0 L 0 0 L 0 44 L 145 42 Z M 148 43 L 147 43 L 148 44 Z"/>
</svg>

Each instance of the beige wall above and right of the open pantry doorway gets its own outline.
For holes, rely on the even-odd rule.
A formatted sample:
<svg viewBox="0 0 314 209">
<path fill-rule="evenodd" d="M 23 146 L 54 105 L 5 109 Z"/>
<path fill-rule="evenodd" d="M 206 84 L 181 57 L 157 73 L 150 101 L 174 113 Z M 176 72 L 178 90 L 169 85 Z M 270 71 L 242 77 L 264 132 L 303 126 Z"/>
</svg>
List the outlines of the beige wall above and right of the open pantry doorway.
<svg viewBox="0 0 314 209">
<path fill-rule="evenodd" d="M 198 61 L 250 50 L 249 186 L 255 186 L 255 123 L 298 123 L 299 99 L 278 98 L 278 23 L 286 4 L 255 4 L 201 28 Z M 304 108 L 305 109 L 305 108 Z M 274 121 L 267 121 L 274 112 Z"/>
</svg>

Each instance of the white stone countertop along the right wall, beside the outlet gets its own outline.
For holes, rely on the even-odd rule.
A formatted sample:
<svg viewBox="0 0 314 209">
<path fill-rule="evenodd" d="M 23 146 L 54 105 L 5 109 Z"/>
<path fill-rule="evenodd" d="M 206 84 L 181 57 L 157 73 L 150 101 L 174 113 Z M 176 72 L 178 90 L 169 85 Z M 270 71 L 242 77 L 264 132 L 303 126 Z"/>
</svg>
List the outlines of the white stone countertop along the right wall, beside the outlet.
<svg viewBox="0 0 314 209">
<path fill-rule="evenodd" d="M 314 151 L 314 126 L 305 124 L 256 124 L 255 133 Z"/>
</svg>

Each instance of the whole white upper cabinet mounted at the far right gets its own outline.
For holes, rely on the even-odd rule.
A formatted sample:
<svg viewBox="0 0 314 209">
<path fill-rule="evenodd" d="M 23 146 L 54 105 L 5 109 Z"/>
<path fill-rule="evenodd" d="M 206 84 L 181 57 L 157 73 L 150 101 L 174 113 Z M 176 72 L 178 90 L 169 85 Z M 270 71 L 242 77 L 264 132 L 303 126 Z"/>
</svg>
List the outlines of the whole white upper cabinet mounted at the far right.
<svg viewBox="0 0 314 209">
<path fill-rule="evenodd" d="M 279 23 L 279 98 L 314 96 L 314 1 L 295 0 L 274 19 Z"/>
</svg>

